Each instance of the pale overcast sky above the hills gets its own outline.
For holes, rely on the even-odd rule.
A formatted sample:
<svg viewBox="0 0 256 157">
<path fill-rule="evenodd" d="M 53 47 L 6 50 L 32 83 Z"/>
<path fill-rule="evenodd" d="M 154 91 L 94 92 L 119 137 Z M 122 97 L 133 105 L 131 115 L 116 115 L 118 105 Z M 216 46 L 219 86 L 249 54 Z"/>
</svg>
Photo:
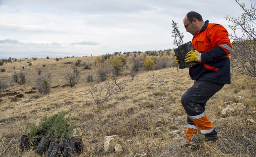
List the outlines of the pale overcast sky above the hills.
<svg viewBox="0 0 256 157">
<path fill-rule="evenodd" d="M 227 29 L 232 23 L 225 16 L 242 13 L 235 0 L 0 0 L 0 53 L 102 55 L 173 48 L 172 20 L 184 42 L 192 38 L 183 26 L 189 11 Z"/>
</svg>

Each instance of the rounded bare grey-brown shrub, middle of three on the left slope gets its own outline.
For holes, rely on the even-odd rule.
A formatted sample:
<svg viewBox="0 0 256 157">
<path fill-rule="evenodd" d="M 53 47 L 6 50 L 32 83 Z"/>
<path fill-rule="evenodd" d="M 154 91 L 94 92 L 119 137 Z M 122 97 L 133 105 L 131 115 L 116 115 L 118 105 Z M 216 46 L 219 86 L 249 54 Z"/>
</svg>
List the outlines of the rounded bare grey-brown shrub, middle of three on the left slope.
<svg viewBox="0 0 256 157">
<path fill-rule="evenodd" d="M 41 94 L 47 94 L 51 89 L 51 75 L 41 74 L 37 77 L 35 82 L 37 84 L 38 92 Z"/>
</svg>

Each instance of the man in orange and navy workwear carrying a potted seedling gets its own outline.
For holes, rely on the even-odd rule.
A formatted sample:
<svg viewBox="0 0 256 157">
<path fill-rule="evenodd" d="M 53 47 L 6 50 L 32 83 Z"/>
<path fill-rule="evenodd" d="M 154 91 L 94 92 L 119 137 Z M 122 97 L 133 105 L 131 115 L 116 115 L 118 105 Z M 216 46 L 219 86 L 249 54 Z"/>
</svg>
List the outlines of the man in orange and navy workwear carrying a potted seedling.
<svg viewBox="0 0 256 157">
<path fill-rule="evenodd" d="M 187 13 L 183 20 L 185 29 L 193 35 L 195 49 L 186 54 L 185 62 L 199 62 L 189 69 L 194 85 L 181 97 L 181 104 L 188 115 L 188 144 L 198 145 L 201 141 L 218 139 L 217 131 L 205 114 L 205 105 L 224 84 L 231 83 L 229 54 L 232 44 L 228 32 L 223 26 L 208 22 L 204 22 L 195 11 Z"/>
</svg>

